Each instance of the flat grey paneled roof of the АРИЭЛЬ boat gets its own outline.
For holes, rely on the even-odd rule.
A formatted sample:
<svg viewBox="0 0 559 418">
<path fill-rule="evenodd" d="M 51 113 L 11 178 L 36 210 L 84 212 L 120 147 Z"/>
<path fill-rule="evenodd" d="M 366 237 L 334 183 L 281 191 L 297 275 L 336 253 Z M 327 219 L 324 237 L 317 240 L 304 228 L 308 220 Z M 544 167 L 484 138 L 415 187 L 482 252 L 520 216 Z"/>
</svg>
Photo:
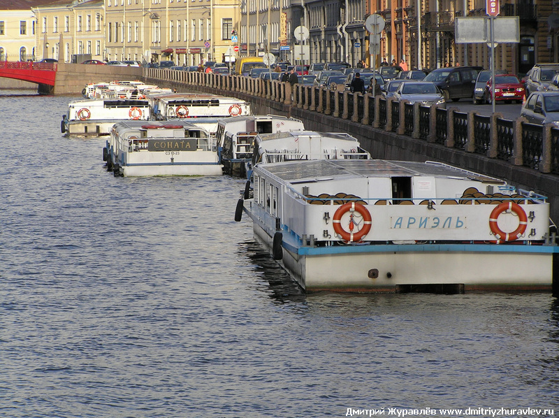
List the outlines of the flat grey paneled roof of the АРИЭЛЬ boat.
<svg viewBox="0 0 559 418">
<path fill-rule="evenodd" d="M 504 180 L 435 161 L 388 161 L 384 159 L 321 159 L 256 165 L 286 183 L 333 180 L 333 178 L 444 177 L 506 185 Z"/>
</svg>

